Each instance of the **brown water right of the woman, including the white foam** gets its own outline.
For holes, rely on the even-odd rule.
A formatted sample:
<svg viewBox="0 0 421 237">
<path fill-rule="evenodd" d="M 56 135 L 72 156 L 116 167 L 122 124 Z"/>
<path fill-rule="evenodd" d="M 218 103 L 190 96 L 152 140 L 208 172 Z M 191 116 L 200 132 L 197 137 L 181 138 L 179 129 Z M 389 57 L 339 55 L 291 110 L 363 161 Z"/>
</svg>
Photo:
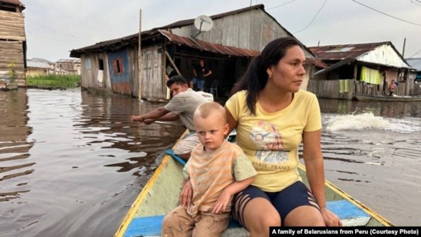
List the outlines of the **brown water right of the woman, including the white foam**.
<svg viewBox="0 0 421 237">
<path fill-rule="evenodd" d="M 398 226 L 420 226 L 421 102 L 319 100 L 326 178 Z"/>
</svg>

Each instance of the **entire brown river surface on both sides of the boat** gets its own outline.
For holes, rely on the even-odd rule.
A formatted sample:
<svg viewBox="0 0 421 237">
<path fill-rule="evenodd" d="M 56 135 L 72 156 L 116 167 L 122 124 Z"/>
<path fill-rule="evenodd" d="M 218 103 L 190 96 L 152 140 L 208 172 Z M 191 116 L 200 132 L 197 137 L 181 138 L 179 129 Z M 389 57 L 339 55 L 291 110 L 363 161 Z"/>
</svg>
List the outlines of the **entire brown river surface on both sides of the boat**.
<svg viewBox="0 0 421 237">
<path fill-rule="evenodd" d="M 326 178 L 399 226 L 421 225 L 421 102 L 320 99 Z M 0 92 L 0 236 L 112 236 L 183 128 L 162 106 L 79 89 Z"/>
</svg>

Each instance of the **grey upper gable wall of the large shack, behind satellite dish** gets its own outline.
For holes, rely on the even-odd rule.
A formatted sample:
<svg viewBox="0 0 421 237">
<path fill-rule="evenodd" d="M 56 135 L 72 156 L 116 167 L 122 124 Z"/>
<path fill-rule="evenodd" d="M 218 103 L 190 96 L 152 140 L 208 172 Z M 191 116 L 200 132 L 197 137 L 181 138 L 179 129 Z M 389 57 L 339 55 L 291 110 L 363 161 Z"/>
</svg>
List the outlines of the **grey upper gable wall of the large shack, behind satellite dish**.
<svg viewBox="0 0 421 237">
<path fill-rule="evenodd" d="M 194 24 L 173 28 L 173 34 L 190 37 L 198 30 Z M 225 46 L 261 51 L 270 41 L 280 37 L 293 37 L 261 9 L 224 16 L 213 20 L 213 28 L 197 36 L 198 40 Z M 306 57 L 314 56 L 304 49 Z"/>
</svg>

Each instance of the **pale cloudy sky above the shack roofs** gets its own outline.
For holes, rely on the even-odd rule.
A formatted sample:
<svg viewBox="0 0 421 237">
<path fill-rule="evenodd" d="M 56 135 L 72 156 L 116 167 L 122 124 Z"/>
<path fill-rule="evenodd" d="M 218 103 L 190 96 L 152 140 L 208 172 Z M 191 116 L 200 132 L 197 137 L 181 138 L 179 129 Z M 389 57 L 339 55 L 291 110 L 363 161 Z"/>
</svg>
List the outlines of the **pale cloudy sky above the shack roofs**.
<svg viewBox="0 0 421 237">
<path fill-rule="evenodd" d="M 139 9 L 142 30 L 149 30 L 250 6 L 250 0 L 21 1 L 26 6 L 28 59 L 50 61 L 69 58 L 69 51 L 75 48 L 138 32 Z M 402 52 L 406 37 L 405 57 L 421 57 L 421 0 L 355 1 L 252 0 L 251 4 L 264 4 L 266 11 L 306 46 L 317 46 L 319 41 L 321 46 L 392 41 Z"/>
</svg>

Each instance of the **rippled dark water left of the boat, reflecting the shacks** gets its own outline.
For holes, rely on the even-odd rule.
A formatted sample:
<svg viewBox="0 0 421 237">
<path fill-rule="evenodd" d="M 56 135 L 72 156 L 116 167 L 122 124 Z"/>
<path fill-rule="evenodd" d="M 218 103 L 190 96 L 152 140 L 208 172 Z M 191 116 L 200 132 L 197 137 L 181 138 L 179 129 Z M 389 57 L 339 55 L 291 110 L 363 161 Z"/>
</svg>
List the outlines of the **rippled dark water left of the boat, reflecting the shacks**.
<svg viewBox="0 0 421 237">
<path fill-rule="evenodd" d="M 0 236 L 110 236 L 183 129 L 162 104 L 80 90 L 0 92 Z"/>
</svg>

